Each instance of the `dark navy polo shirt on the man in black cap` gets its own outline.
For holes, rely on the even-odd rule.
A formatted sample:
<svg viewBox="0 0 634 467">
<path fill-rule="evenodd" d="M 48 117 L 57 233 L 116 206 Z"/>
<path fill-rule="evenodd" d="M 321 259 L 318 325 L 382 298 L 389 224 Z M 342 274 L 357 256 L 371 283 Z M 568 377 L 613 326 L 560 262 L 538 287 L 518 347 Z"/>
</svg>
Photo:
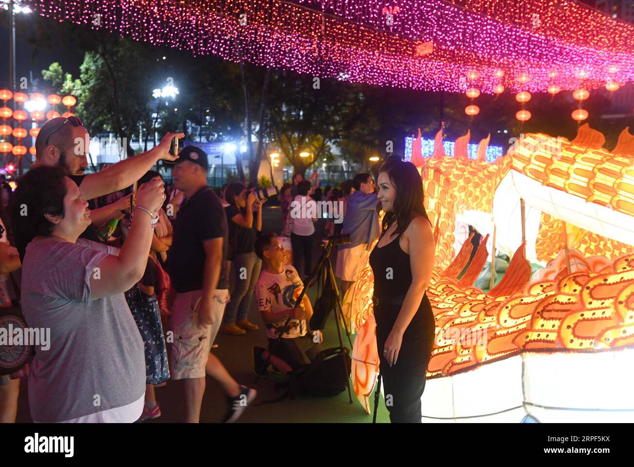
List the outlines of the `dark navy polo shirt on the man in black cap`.
<svg viewBox="0 0 634 467">
<path fill-rule="evenodd" d="M 167 252 L 169 275 L 178 293 L 202 289 L 205 274 L 205 240 L 222 238 L 223 262 L 216 289 L 228 289 L 225 259 L 227 257 L 227 218 L 223 204 L 211 187 L 200 188 L 181 204 L 172 246 Z"/>
</svg>

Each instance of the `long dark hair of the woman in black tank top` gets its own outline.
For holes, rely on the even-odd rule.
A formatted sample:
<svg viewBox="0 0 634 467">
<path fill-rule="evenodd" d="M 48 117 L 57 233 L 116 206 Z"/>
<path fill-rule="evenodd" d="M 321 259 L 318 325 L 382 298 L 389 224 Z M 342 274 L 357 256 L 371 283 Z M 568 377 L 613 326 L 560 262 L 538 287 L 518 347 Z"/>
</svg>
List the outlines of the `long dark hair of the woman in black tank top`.
<svg viewBox="0 0 634 467">
<path fill-rule="evenodd" d="M 416 166 L 411 162 L 389 159 L 378 171 L 379 174 L 384 172 L 389 176 L 392 186 L 396 188 L 396 199 L 394 199 L 394 210 L 391 213 L 385 213 L 382 232 L 385 232 L 396 221 L 398 227 L 396 227 L 392 237 L 394 235 L 401 237 L 416 214 L 429 220 L 423 204 L 423 182 Z M 377 213 L 380 211 L 381 203 L 379 202 Z"/>
</svg>

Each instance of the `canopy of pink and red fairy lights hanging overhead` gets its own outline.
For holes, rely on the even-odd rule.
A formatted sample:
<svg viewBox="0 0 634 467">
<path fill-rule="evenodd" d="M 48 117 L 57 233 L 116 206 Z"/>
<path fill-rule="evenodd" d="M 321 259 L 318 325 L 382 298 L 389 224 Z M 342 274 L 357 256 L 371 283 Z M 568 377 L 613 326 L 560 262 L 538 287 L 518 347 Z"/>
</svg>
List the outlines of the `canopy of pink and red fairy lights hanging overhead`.
<svg viewBox="0 0 634 467">
<path fill-rule="evenodd" d="M 153 45 L 379 86 L 515 93 L 616 91 L 634 27 L 568 0 L 30 0 L 42 16 Z M 578 100 L 580 103 L 583 100 Z M 571 115 L 581 121 L 581 105 Z M 579 111 L 579 112 L 577 112 Z"/>
</svg>

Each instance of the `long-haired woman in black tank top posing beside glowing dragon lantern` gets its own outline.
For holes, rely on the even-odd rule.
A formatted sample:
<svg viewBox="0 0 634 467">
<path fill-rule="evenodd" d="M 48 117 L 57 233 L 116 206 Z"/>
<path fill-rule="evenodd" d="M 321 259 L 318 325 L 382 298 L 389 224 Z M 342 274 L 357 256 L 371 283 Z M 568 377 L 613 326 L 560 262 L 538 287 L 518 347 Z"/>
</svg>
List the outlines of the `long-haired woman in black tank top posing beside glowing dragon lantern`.
<svg viewBox="0 0 634 467">
<path fill-rule="evenodd" d="M 370 253 L 374 316 L 385 405 L 392 423 L 421 423 L 425 372 L 434 347 L 434 314 L 425 294 L 434 267 L 434 235 L 420 174 L 389 160 L 378 174 L 382 234 Z"/>
</svg>

